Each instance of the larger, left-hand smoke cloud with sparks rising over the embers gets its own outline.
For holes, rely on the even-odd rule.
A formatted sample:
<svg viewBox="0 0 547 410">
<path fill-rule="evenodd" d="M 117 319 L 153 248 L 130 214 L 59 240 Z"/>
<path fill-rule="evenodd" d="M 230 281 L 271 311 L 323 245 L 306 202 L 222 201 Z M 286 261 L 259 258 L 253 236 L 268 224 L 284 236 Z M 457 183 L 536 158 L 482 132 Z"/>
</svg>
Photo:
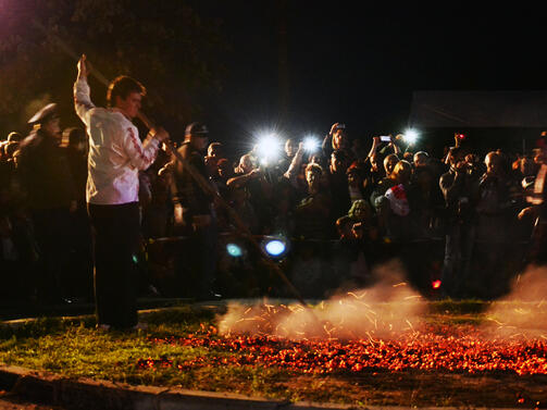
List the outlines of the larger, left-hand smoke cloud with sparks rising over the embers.
<svg viewBox="0 0 547 410">
<path fill-rule="evenodd" d="M 420 295 L 403 282 L 399 263 L 373 272 L 376 285 L 338 295 L 312 309 L 300 305 L 228 306 L 219 319 L 221 334 L 249 334 L 289 339 L 396 338 L 413 331 L 424 313 Z"/>
</svg>

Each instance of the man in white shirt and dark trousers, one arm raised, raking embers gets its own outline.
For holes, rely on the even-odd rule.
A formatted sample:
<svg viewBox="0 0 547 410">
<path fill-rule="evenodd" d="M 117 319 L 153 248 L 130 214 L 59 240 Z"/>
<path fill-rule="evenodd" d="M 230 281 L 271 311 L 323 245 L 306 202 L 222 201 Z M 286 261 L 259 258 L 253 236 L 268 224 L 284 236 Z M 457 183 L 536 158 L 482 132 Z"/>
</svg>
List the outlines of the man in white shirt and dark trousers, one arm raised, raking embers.
<svg viewBox="0 0 547 410">
<path fill-rule="evenodd" d="M 130 328 L 137 325 L 138 172 L 152 164 L 169 134 L 163 128 L 151 129 L 140 141 L 132 122 L 146 95 L 140 83 L 127 76 L 115 78 L 107 95 L 109 108 L 103 109 L 89 98 L 87 74 L 83 55 L 74 103 L 89 136 L 86 200 L 95 239 L 97 321 L 102 328 Z"/>
</svg>

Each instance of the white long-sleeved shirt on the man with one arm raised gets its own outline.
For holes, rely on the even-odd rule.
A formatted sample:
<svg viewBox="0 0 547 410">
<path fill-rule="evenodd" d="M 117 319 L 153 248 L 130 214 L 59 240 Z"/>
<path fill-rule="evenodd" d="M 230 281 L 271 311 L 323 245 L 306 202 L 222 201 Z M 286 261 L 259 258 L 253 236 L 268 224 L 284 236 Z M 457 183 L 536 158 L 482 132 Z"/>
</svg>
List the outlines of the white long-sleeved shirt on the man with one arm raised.
<svg viewBox="0 0 547 410">
<path fill-rule="evenodd" d="M 138 201 L 138 172 L 152 164 L 159 141 L 148 136 L 141 144 L 137 127 L 119 110 L 95 107 L 85 79 L 74 84 L 74 104 L 89 136 L 87 202 Z"/>
</svg>

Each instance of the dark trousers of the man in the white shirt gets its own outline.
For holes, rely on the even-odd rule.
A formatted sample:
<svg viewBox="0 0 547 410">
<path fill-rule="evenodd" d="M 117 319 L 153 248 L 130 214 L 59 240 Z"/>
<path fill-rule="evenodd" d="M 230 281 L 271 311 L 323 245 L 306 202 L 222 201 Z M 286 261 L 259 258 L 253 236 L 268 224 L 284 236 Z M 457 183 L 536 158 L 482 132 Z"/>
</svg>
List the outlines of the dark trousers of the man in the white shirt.
<svg viewBox="0 0 547 410">
<path fill-rule="evenodd" d="M 89 203 L 88 213 L 94 233 L 97 322 L 132 327 L 137 324 L 138 203 Z"/>
</svg>

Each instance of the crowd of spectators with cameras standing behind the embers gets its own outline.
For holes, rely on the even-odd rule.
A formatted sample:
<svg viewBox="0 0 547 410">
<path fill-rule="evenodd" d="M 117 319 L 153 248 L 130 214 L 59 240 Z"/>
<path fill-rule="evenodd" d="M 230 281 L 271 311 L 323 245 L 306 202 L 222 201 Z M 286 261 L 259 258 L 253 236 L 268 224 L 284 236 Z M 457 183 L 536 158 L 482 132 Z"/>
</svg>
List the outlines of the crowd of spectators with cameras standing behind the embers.
<svg viewBox="0 0 547 410">
<path fill-rule="evenodd" d="M 0 145 L 3 296 L 43 302 L 90 298 L 85 132 L 71 128 L 59 135 L 54 153 L 48 153 L 54 158 L 42 170 L 27 162 L 43 162 L 43 158 L 21 154 L 27 139 L 11 133 Z M 493 150 L 483 161 L 462 144 L 461 135 L 456 135 L 444 158 L 415 150 L 401 135 L 373 137 L 368 152 L 364 145 L 359 138 L 351 140 L 345 125 L 336 123 L 318 149 L 287 139 L 282 158 L 268 164 L 258 147 L 233 159 L 215 141 L 206 145 L 200 160 L 211 186 L 253 235 L 282 237 L 291 244 L 289 256 L 278 263 L 304 297 L 366 286 L 374 281 L 375 264 L 400 257 L 406 249 L 407 253 L 421 249 L 422 253 L 412 254 L 413 260 L 419 260 L 424 283 L 439 285 L 436 291 L 442 297 L 492 298 L 506 291 L 510 276 L 522 268 L 523 249 L 535 222 L 526 197 L 534 196 L 536 174 L 545 161 L 543 151 L 520 156 Z M 170 261 L 176 265 L 185 246 L 191 249 L 184 241 L 186 231 L 176 223 L 176 160 L 162 151 L 139 175 L 142 254 L 135 256 L 135 263 L 142 273 L 142 291 L 154 294 L 158 287 L 165 291 L 154 281 L 166 274 L 162 270 L 176 271 Z M 66 186 L 70 194 L 63 191 Z M 46 192 L 36 196 L 37 190 Z M 204 194 L 176 192 L 177 198 L 184 195 Z M 38 238 L 38 211 L 57 207 L 39 203 L 39 198 L 51 202 L 63 196 L 70 200 L 66 219 L 55 220 L 58 229 Z M 209 203 L 207 198 L 203 203 Z M 209 254 L 217 261 L 216 290 L 226 296 L 275 294 L 275 281 L 262 274 L 258 256 L 225 251 L 235 225 L 219 201 L 211 204 L 219 234 L 210 248 L 216 256 Z M 412 248 L 412 244 L 424 246 Z M 434 249 L 431 244 L 443 249 L 436 268 L 425 263 Z M 171 257 L 170 257 L 169 246 Z M 182 287 L 170 290 L 191 296 L 191 287 Z"/>
</svg>

